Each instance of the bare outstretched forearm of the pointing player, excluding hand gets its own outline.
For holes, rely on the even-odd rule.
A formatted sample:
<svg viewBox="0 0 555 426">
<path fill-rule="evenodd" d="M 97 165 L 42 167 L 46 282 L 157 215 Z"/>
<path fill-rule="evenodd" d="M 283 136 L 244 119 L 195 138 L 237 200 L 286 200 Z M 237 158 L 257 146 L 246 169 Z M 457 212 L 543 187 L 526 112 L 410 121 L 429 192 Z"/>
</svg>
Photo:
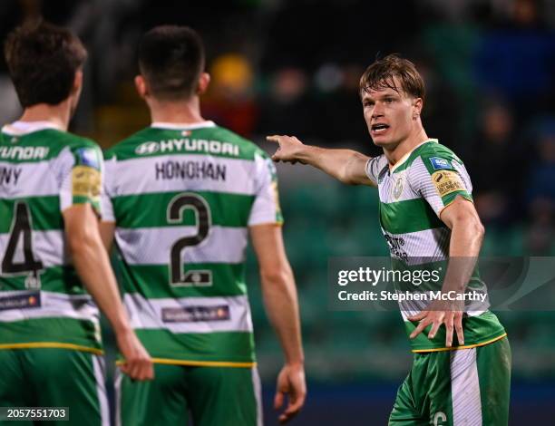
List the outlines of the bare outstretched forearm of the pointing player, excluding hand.
<svg viewBox="0 0 555 426">
<path fill-rule="evenodd" d="M 355 150 L 331 150 L 303 145 L 297 151 L 297 159 L 346 184 L 365 183 L 365 164 L 369 160 Z"/>
</svg>

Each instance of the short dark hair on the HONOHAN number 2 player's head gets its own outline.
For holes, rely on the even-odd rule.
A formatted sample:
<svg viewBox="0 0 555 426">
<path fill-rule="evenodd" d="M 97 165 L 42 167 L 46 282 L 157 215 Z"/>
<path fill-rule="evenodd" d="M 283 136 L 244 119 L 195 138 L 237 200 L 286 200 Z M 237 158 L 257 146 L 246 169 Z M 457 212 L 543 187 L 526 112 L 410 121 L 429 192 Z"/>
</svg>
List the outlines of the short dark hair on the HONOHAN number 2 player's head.
<svg viewBox="0 0 555 426">
<path fill-rule="evenodd" d="M 190 98 L 204 70 L 199 34 L 187 26 L 161 25 L 142 36 L 139 67 L 154 97 Z"/>
</svg>

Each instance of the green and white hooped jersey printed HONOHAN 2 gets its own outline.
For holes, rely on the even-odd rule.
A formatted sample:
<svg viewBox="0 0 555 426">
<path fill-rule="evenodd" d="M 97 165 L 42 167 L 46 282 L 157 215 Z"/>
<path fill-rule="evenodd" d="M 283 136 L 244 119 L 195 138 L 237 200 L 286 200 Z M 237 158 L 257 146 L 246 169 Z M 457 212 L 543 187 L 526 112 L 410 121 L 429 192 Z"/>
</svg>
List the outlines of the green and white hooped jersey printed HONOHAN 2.
<svg viewBox="0 0 555 426">
<path fill-rule="evenodd" d="M 154 361 L 252 365 L 248 227 L 282 223 L 267 154 L 212 121 L 153 123 L 105 166 L 124 304 Z"/>
</svg>

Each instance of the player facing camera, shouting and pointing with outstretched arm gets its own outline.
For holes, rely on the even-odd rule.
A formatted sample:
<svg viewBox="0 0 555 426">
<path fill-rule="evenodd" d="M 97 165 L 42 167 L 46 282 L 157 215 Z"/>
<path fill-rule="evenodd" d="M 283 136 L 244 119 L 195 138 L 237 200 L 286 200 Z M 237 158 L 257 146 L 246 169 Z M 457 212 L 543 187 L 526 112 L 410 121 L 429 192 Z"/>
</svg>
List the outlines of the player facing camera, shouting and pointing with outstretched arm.
<svg viewBox="0 0 555 426">
<path fill-rule="evenodd" d="M 312 165 L 347 184 L 377 187 L 380 225 L 396 263 L 449 258 L 444 294 L 460 295 L 467 285 L 484 292 L 473 271 L 484 231 L 472 204 L 471 180 L 463 161 L 424 131 L 424 81 L 414 64 L 396 55 L 376 61 L 361 78 L 360 95 L 368 131 L 382 155 L 368 158 L 270 136 L 279 144 L 273 159 Z M 497 317 L 483 305 L 434 301 L 420 312 L 401 307 L 414 363 L 389 424 L 506 425 L 511 351 Z"/>
</svg>

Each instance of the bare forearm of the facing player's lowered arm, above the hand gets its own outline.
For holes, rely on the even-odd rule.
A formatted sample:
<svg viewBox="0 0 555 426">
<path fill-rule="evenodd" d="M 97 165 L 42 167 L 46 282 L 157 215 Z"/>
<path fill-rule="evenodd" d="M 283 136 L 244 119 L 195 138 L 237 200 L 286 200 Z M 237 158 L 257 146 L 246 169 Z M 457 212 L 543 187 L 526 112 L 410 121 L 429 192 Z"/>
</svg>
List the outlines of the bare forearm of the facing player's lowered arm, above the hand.
<svg viewBox="0 0 555 426">
<path fill-rule="evenodd" d="M 449 266 L 443 290 L 464 291 L 476 266 L 483 240 L 483 227 L 476 220 L 461 220 L 453 224 L 449 246 Z"/>
</svg>

